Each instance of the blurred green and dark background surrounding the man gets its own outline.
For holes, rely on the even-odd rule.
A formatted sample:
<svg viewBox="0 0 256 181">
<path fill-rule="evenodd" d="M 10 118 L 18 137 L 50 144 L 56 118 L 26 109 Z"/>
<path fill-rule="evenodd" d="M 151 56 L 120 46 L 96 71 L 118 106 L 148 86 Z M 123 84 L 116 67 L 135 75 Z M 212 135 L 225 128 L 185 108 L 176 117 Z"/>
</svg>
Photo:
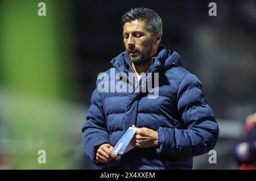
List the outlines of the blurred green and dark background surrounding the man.
<svg viewBox="0 0 256 181">
<path fill-rule="evenodd" d="M 44 17 L 37 14 L 39 2 L 0 2 L 3 168 L 98 169 L 81 146 L 90 95 L 98 73 L 125 50 L 121 16 L 148 7 L 163 20 L 162 45 L 178 52 L 203 83 L 220 125 L 217 163 L 204 154 L 193 168 L 236 169 L 234 145 L 246 117 L 256 112 L 256 1 L 43 1 Z M 208 15 L 210 2 L 217 16 Z M 28 145 L 22 153 L 19 140 Z M 48 148 L 52 164 L 36 162 L 40 148 Z"/>
</svg>

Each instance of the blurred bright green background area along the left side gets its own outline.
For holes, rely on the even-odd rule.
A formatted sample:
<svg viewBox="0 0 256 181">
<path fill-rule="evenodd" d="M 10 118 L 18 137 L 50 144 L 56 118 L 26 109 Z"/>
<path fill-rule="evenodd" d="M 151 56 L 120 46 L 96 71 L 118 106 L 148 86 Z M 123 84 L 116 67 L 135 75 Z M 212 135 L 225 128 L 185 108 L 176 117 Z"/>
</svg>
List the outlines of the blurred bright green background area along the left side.
<svg viewBox="0 0 256 181">
<path fill-rule="evenodd" d="M 72 149 L 82 122 L 72 120 L 84 115 L 67 98 L 72 9 L 67 1 L 43 1 L 46 16 L 39 16 L 39 2 L 0 2 L 1 162 L 4 169 L 77 169 Z M 39 150 L 46 164 L 38 163 Z"/>
</svg>

